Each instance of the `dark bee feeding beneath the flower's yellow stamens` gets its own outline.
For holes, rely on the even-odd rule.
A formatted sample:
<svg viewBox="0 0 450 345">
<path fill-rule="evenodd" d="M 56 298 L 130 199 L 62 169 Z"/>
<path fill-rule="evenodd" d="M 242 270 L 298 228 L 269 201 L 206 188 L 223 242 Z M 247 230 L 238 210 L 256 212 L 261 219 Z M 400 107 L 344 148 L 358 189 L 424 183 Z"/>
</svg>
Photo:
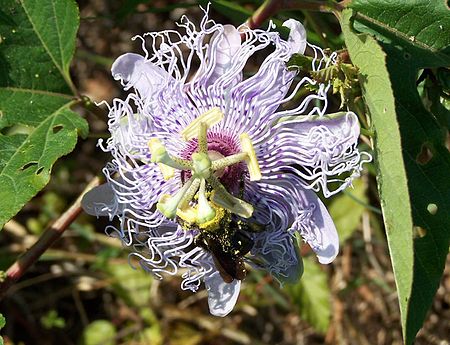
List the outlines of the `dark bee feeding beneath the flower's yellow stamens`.
<svg viewBox="0 0 450 345">
<path fill-rule="evenodd" d="M 249 232 L 259 228 L 242 221 L 231 221 L 214 232 L 201 232 L 197 244 L 209 251 L 220 276 L 226 283 L 234 279 L 243 280 L 247 275 L 244 256 L 253 248 L 254 241 Z"/>
</svg>

